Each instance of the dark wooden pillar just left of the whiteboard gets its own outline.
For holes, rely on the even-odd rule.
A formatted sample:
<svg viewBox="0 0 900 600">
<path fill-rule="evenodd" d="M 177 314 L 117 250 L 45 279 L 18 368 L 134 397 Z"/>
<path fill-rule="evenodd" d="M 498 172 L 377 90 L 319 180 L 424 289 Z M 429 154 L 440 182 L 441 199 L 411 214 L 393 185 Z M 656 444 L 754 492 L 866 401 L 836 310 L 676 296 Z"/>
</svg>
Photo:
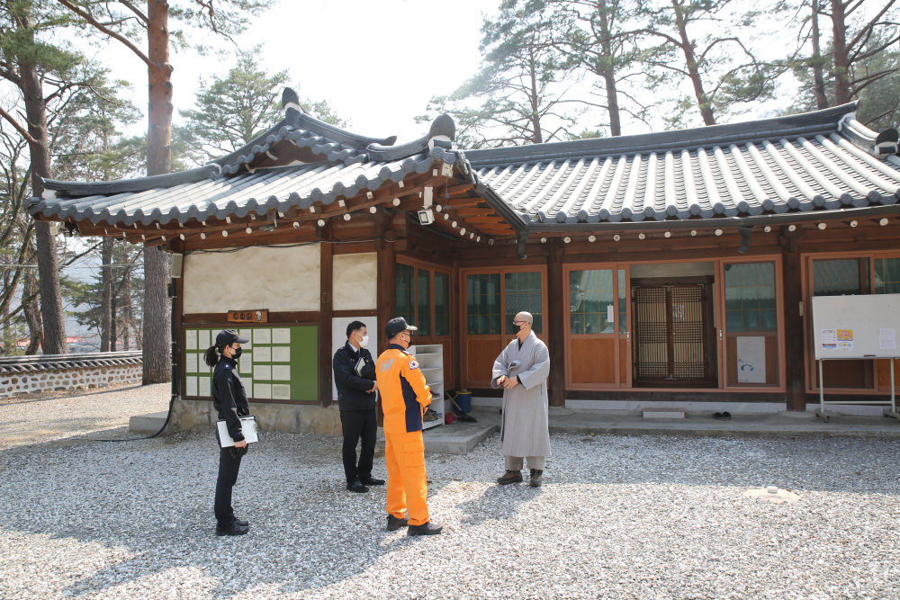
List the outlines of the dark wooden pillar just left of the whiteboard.
<svg viewBox="0 0 900 600">
<path fill-rule="evenodd" d="M 800 261 L 800 231 L 784 229 L 781 237 L 782 282 L 785 299 L 785 382 L 788 410 L 806 410 L 805 358 L 806 338 L 803 335 L 803 316 L 800 302 L 803 300 Z M 805 307 L 806 310 L 809 307 Z"/>
</svg>

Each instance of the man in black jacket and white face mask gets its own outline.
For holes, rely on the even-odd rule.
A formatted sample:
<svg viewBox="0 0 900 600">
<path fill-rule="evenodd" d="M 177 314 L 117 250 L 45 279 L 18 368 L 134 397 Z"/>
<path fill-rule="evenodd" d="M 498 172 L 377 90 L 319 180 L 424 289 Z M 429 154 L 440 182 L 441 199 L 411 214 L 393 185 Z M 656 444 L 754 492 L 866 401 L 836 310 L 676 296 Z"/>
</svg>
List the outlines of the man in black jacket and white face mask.
<svg viewBox="0 0 900 600">
<path fill-rule="evenodd" d="M 369 342 L 365 323 L 354 321 L 347 326 L 347 344 L 338 348 L 333 361 L 335 387 L 338 389 L 341 428 L 344 432 L 344 474 L 347 490 L 363 493 L 366 485 L 382 486 L 383 479 L 373 479 L 372 461 L 378 429 L 375 415 L 375 362 L 365 349 Z M 356 462 L 356 443 L 363 438 L 363 449 Z"/>
</svg>

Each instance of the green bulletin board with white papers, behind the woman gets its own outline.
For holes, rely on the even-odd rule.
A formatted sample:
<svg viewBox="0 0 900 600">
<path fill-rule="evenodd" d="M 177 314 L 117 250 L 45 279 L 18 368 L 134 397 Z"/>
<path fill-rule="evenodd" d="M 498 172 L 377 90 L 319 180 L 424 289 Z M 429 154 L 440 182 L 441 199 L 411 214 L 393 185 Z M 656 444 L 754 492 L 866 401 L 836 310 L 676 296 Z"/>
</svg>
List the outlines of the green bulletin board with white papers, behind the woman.
<svg viewBox="0 0 900 600">
<path fill-rule="evenodd" d="M 184 398 L 211 399 L 212 369 L 203 353 L 222 327 L 184 328 Z M 243 327 L 238 374 L 251 400 L 319 400 L 319 327 Z"/>
</svg>

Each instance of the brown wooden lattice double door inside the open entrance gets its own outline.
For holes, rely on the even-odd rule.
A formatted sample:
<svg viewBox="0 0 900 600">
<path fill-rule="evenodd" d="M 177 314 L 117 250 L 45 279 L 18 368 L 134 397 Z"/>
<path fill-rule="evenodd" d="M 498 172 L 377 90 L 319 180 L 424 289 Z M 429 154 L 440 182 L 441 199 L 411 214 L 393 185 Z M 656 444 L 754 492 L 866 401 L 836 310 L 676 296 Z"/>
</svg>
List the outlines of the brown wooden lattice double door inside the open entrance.
<svg viewBox="0 0 900 600">
<path fill-rule="evenodd" d="M 633 288 L 635 382 L 716 379 L 709 360 L 706 288 L 693 283 Z"/>
</svg>

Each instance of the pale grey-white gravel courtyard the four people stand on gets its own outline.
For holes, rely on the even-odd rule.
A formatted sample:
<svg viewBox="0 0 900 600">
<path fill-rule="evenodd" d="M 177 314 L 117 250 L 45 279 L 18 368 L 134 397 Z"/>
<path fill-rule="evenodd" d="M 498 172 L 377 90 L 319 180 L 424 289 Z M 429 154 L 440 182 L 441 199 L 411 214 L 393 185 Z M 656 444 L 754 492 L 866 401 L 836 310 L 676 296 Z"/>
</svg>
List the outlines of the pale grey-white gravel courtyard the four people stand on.
<svg viewBox="0 0 900 600">
<path fill-rule="evenodd" d="M 211 434 L 18 445 L 0 453 L 0 598 L 900 597 L 896 441 L 551 443 L 539 489 L 493 484 L 496 436 L 429 455 L 430 538 L 383 530 L 383 488 L 343 489 L 338 440 L 264 433 L 240 538 L 212 534 Z M 742 496 L 769 484 L 800 500 Z"/>
</svg>

